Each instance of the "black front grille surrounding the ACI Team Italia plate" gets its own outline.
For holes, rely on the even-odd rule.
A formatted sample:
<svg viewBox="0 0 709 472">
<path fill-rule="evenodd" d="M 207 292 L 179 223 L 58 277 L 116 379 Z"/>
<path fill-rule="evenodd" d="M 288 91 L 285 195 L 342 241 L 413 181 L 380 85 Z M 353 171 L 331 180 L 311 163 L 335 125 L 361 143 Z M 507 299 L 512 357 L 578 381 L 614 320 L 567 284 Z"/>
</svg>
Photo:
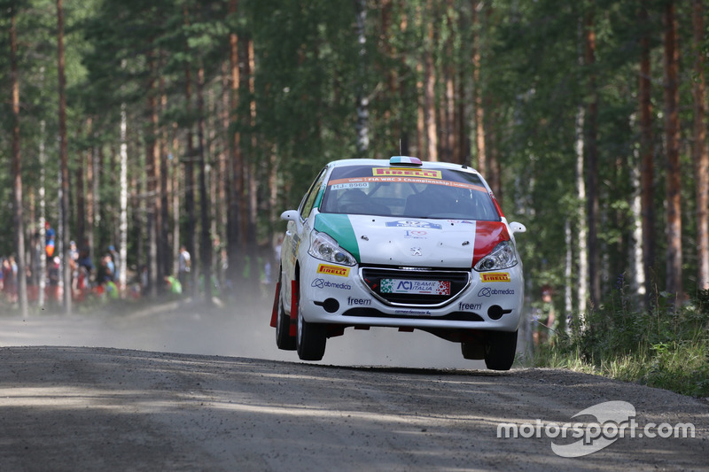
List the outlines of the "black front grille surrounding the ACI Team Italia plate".
<svg viewBox="0 0 709 472">
<path fill-rule="evenodd" d="M 401 269 L 390 267 L 361 267 L 360 278 L 371 294 L 390 306 L 445 306 L 456 299 L 471 282 L 470 271 L 433 270 L 425 268 Z M 391 293 L 382 290 L 382 281 L 399 282 L 405 287 L 417 282 L 445 282 L 449 284 L 448 294 L 436 293 Z M 391 290 L 391 289 L 389 289 Z"/>
</svg>

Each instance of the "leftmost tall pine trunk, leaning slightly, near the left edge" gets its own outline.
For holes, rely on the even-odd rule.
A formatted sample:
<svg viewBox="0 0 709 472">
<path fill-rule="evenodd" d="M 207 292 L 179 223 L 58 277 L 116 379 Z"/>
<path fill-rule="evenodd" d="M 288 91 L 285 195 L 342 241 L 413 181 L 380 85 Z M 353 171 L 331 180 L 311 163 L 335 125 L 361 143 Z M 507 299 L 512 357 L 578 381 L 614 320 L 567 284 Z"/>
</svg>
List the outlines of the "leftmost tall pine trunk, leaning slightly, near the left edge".
<svg viewBox="0 0 709 472">
<path fill-rule="evenodd" d="M 19 149 L 19 72 L 17 60 L 16 13 L 12 10 L 10 18 L 10 82 L 12 103 L 12 220 L 15 230 L 15 248 L 17 250 L 17 285 L 19 313 L 27 318 L 27 277 L 25 276 L 25 222 L 22 212 L 22 168 Z"/>
</svg>

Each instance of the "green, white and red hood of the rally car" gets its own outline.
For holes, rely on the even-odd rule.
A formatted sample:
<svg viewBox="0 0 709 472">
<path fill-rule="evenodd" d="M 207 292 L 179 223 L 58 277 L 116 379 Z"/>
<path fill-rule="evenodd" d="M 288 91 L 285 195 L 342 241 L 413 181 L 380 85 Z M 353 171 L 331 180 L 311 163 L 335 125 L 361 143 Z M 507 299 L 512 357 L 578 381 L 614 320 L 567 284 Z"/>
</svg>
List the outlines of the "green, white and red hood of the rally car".
<svg viewBox="0 0 709 472">
<path fill-rule="evenodd" d="M 315 228 L 362 264 L 471 268 L 510 236 L 502 221 L 318 213 Z"/>
</svg>

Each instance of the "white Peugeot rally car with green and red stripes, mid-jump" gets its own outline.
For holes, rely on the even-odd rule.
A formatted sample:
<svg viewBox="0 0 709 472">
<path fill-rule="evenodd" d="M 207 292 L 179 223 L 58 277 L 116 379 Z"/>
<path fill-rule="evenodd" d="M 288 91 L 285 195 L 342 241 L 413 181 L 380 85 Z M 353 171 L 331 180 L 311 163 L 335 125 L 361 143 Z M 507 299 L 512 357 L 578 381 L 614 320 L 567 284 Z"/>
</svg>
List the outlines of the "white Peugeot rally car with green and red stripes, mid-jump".
<svg viewBox="0 0 709 472">
<path fill-rule="evenodd" d="M 331 162 L 288 221 L 271 326 L 280 349 L 321 360 L 347 327 L 423 329 L 507 370 L 524 298 L 515 233 L 467 166 Z"/>
</svg>

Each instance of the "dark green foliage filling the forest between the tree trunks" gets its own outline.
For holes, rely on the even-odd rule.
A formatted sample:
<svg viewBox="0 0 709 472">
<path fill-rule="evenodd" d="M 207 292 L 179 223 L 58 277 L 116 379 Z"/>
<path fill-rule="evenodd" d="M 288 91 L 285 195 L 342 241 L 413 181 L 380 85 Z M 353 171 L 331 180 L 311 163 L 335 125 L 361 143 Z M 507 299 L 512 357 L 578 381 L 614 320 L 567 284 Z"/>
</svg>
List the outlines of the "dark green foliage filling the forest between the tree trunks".
<svg viewBox="0 0 709 472">
<path fill-rule="evenodd" d="M 417 124 L 423 103 L 419 66 L 431 52 L 436 68 L 435 108 L 445 107 L 445 74 L 456 81 L 456 113 L 464 128 L 464 143 L 458 156 L 475 164 L 479 150 L 474 143 L 475 116 L 472 92 L 483 97 L 486 111 L 487 146 L 499 160 L 502 173 L 500 199 L 510 219 L 522 221 L 529 232 L 518 238 L 526 275 L 534 285 L 565 283 L 567 224 L 573 241 L 585 224 L 577 197 L 577 115 L 591 101 L 598 104 L 598 182 L 601 215 L 598 221 L 600 247 L 606 274 L 627 272 L 628 234 L 638 215 L 629 202 L 631 181 L 638 167 L 637 72 L 638 40 L 651 38 L 652 102 L 655 164 L 655 209 L 658 241 L 658 284 L 662 284 L 664 188 L 662 150 L 662 23 L 663 2 L 646 2 L 649 19 L 637 18 L 637 2 L 597 0 L 562 2 L 495 0 L 481 2 L 479 24 L 473 25 L 469 0 L 444 2 L 391 2 L 370 0 L 366 5 L 365 43 L 358 42 L 355 13 L 358 2 L 331 0 L 240 0 L 230 12 L 227 0 L 87 0 L 65 2 L 67 116 L 70 172 L 74 183 L 82 168 L 79 156 L 100 154 L 104 166 L 98 196 L 102 205 L 100 224 L 93 228 L 97 244 L 114 242 L 118 221 L 116 155 L 121 105 L 129 123 L 129 180 L 143 185 L 144 156 L 153 134 L 148 100 L 160 98 L 159 133 L 168 136 L 168 152 L 188 162 L 183 144 L 188 131 L 196 130 L 198 116 L 194 99 L 197 69 L 205 70 L 207 101 L 207 162 L 215 166 L 221 152 L 240 135 L 246 166 L 258 181 L 260 240 L 268 240 L 277 225 L 273 215 L 298 205 L 313 176 L 326 162 L 355 157 L 388 157 L 403 148 L 417 149 Z M 28 199 L 37 197 L 40 169 L 46 174 L 47 213 L 58 221 L 58 143 L 56 2 L 53 0 L 0 0 L 0 8 L 17 12 L 19 77 L 21 81 L 22 166 L 25 214 Z M 681 120 L 685 212 L 685 240 L 697 233 L 693 175 L 689 149 L 692 106 L 690 85 L 694 59 L 691 44 L 690 4 L 678 4 L 680 57 L 682 58 Z M 388 16 L 387 16 L 388 15 Z M 584 66 L 583 33 L 593 19 L 596 62 Z M 385 21 L 386 19 L 386 21 Z M 0 30 L 7 31 L 8 15 L 0 17 Z M 428 27 L 433 26 L 429 38 Z M 707 25 L 709 27 L 709 25 Z M 479 43 L 473 42 L 479 34 Z M 222 110 L 230 83 L 230 35 L 238 35 L 239 74 L 245 83 L 238 90 L 235 108 Z M 8 90 L 9 45 L 0 36 L 0 89 Z M 252 42 L 253 71 L 245 58 L 244 45 Z M 709 39 L 705 38 L 705 47 Z M 448 49 L 448 46 L 450 49 Z M 473 46 L 481 54 L 479 81 L 472 77 Z M 706 62 L 709 67 L 709 61 Z M 186 73 L 190 72 L 191 82 Z M 253 74 L 251 74 L 253 73 Z M 248 79 L 252 81 L 249 83 Z M 591 85 L 595 85 L 591 89 Z M 186 89 L 191 86 L 191 95 Z M 253 89 L 251 89 L 253 87 Z M 151 95 L 152 94 L 152 95 Z M 369 99 L 370 150 L 356 149 L 356 105 Z M 164 104 L 162 99 L 164 98 Z M 229 101 L 229 100 L 227 100 Z M 11 149 L 8 100 L 0 112 L 0 166 L 9 167 Z M 252 115 L 252 113 L 254 113 Z M 222 126 L 222 115 L 228 124 Z M 440 121 L 440 117 L 439 121 Z M 92 123 L 88 128 L 88 122 Z M 44 124 L 44 131 L 41 132 Z M 586 130 L 588 131 L 588 129 Z M 440 130 L 447 135 L 449 130 Z M 441 139 L 442 141 L 442 139 Z M 174 144 L 179 143 L 179 144 Z M 45 147 L 46 161 L 39 161 Z M 269 171 L 277 169 L 271 192 Z M 492 172 L 492 171 L 488 171 Z M 487 175 L 490 176 L 490 175 Z M 224 176 L 220 175 L 224 178 Z M 132 189 L 135 190 L 135 189 Z M 0 221 L 12 221 L 12 191 L 9 172 L 0 173 Z M 178 192 L 184 192 L 180 188 Z M 183 193 L 180 194 L 181 196 Z M 248 197 L 248 196 L 244 196 Z M 144 221 L 145 197 L 131 200 L 129 216 Z M 275 200 L 272 200 L 275 198 Z M 72 205 L 76 192 L 72 187 Z M 266 208 L 269 206 L 269 208 Z M 35 208 L 36 210 L 36 208 Z M 269 211 L 261 211 L 269 210 Z M 70 226 L 76 226 L 75 206 Z M 136 219 L 133 216 L 138 213 Z M 185 219 L 182 212 L 180 218 Z M 27 228 L 34 228 L 33 224 Z M 278 223 L 280 224 L 280 223 Z M 222 231 L 222 222 L 215 227 Z M 186 225 L 183 225 L 183 230 Z M 193 228 L 191 228 L 193 229 Z M 183 234 L 186 231 L 183 231 Z M 129 258 L 143 242 L 141 228 L 130 228 Z M 213 235 L 215 236 L 215 235 Z M 0 226 L 0 254 L 12 252 L 12 228 Z M 575 246 L 575 243 L 572 243 Z M 691 244 L 685 246 L 685 278 L 691 280 L 697 265 Z M 573 258 L 578 257 L 573 247 Z M 143 255 L 144 257 L 144 255 Z M 131 259 L 132 262 L 132 259 Z M 142 264 L 144 261 L 137 261 Z M 573 277 L 577 267 L 574 267 Z M 575 282 L 574 278 L 572 281 Z M 611 282 L 604 282 L 610 290 Z M 688 283 L 689 286 L 689 283 Z M 578 300 L 576 300 L 578 304 Z"/>
</svg>

